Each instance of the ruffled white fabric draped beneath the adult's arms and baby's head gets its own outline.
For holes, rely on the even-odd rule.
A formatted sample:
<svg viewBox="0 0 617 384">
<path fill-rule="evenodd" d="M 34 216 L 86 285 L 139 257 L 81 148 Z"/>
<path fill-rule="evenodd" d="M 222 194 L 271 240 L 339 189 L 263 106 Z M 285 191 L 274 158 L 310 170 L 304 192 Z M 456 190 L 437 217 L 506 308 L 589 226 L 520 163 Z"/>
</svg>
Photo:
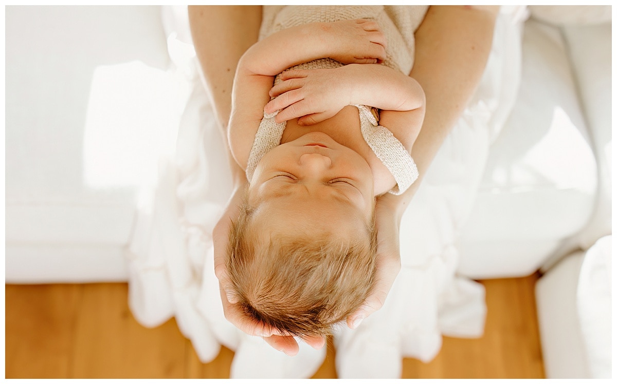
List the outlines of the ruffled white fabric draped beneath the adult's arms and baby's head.
<svg viewBox="0 0 617 384">
<path fill-rule="evenodd" d="M 520 49 L 520 25 L 516 14 L 508 12 L 498 20 L 495 49 L 478 94 L 404 215 L 402 271 L 383 309 L 357 330 L 342 327 L 336 332 L 340 378 L 397 378 L 403 357 L 431 361 L 442 335 L 482 334 L 484 288 L 456 276 L 454 242 L 470 211 L 491 136 L 500 129 L 492 118 L 507 115 L 503 94 L 513 99 L 518 85 L 511 81 L 517 67 L 505 60 L 511 55 L 503 54 L 505 47 Z M 233 349 L 232 378 L 310 377 L 323 363 L 325 348 L 315 351 L 301 343 L 300 353 L 289 357 L 242 333 L 223 316 L 212 229 L 231 194 L 226 149 L 197 76 L 186 7 L 164 7 L 164 22 L 175 69 L 194 91 L 180 126 L 173 127 L 178 129 L 175 155 L 161 158 L 157 185 L 144 190 L 151 198 L 139 206 L 126 252 L 131 311 L 147 327 L 174 316 L 203 362 L 212 361 L 220 345 Z"/>
</svg>

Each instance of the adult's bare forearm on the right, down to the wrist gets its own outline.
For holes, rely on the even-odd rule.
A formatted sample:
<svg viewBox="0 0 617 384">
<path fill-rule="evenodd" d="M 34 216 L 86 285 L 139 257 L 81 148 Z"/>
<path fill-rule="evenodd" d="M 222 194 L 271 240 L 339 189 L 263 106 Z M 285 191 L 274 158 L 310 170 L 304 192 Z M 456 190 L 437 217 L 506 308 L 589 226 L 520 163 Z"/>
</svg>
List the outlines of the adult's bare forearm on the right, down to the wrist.
<svg viewBox="0 0 617 384">
<path fill-rule="evenodd" d="M 426 95 L 424 123 L 412 150 L 420 178 L 404 194 L 380 198 L 399 218 L 478 86 L 491 51 L 498 10 L 431 6 L 415 33 L 415 62 L 410 76 Z"/>
</svg>

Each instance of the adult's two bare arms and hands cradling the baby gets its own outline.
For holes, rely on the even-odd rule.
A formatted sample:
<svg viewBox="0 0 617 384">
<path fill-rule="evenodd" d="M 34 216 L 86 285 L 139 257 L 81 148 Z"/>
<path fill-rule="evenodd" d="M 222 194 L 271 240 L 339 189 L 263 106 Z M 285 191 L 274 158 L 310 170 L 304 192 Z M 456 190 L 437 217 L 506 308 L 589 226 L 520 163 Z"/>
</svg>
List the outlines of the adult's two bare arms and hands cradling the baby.
<svg viewBox="0 0 617 384">
<path fill-rule="evenodd" d="M 422 129 L 413 145 L 413 152 L 420 178 L 431 163 L 437 150 L 458 119 L 481 78 L 491 49 L 492 31 L 498 7 L 431 6 L 420 28 L 416 31 L 415 65 L 410 73 L 426 94 L 426 113 Z M 233 69 L 239 57 L 257 41 L 261 9 L 257 7 L 189 7 L 191 31 L 200 59 L 204 81 L 209 88 L 223 136 L 231 110 Z M 230 28 L 230 25 L 234 25 Z M 216 36 L 211 38 L 208 36 Z M 231 49 L 230 49 L 231 47 Z M 216 52 L 213 54 L 212 52 Z M 225 52 L 225 54 L 220 54 Z M 216 59 L 212 59 L 216 57 Z M 384 126 L 405 124 L 412 119 L 404 112 L 381 115 Z M 230 218 L 237 216 L 237 204 L 243 190 L 244 174 L 235 161 L 231 162 L 236 181 L 223 219 L 215 227 L 215 271 L 221 283 L 221 298 L 225 316 L 239 329 L 251 335 L 261 335 L 278 350 L 287 354 L 297 353 L 298 346 L 292 337 L 276 335 L 242 317 L 225 294 L 224 250 Z M 246 179 L 246 178 L 244 178 Z M 378 239 L 378 284 L 362 308 L 347 318 L 349 327 L 370 316 L 381 306 L 392 282 L 400 271 L 399 225 L 409 200 L 415 194 L 420 180 L 405 194 L 384 195 L 376 205 Z M 223 266 L 223 268 L 222 268 Z M 325 340 L 305 340 L 314 348 L 321 348 Z"/>
</svg>

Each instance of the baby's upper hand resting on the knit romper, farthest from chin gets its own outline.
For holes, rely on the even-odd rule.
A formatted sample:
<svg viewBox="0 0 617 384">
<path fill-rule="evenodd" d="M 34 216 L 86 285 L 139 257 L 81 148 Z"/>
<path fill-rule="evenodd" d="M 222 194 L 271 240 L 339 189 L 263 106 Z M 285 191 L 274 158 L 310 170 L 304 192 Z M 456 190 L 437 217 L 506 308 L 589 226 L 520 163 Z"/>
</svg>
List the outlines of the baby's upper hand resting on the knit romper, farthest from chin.
<svg viewBox="0 0 617 384">
<path fill-rule="evenodd" d="M 332 47 L 330 58 L 343 64 L 375 64 L 386 59 L 386 36 L 371 20 L 341 20 L 323 23 Z"/>
</svg>

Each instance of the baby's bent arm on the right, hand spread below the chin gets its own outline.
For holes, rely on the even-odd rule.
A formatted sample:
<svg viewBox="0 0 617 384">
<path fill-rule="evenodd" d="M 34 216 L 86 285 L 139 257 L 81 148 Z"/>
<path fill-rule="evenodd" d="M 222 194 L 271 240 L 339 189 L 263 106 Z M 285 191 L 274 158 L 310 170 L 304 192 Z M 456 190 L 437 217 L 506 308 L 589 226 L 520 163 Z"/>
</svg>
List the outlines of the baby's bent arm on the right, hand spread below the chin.
<svg viewBox="0 0 617 384">
<path fill-rule="evenodd" d="M 418 82 L 383 65 L 350 64 L 334 69 L 292 70 L 270 91 L 267 113 L 281 110 L 276 121 L 299 118 L 312 125 L 346 105 L 370 105 L 382 110 L 380 124 L 411 150 L 424 118 L 424 91 Z"/>
</svg>

